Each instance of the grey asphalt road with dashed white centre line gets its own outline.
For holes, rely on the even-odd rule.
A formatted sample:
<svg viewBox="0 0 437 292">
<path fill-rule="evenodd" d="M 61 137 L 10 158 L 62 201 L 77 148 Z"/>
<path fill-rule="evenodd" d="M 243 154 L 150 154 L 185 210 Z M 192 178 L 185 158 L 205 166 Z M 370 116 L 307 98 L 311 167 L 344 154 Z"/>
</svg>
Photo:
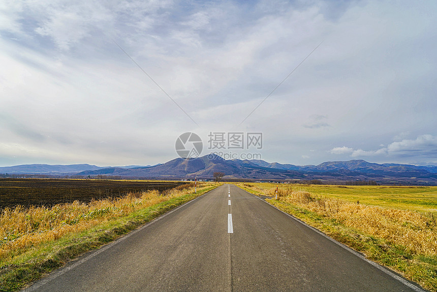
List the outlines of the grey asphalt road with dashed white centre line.
<svg viewBox="0 0 437 292">
<path fill-rule="evenodd" d="M 393 275 L 223 185 L 27 291 L 421 291 Z"/>
</svg>

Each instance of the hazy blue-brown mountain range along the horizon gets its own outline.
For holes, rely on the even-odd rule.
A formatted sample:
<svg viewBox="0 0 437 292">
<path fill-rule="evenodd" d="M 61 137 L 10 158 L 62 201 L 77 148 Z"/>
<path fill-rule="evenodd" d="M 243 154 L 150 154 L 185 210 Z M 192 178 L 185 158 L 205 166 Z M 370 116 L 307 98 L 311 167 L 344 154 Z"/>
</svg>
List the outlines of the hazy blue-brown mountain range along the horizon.
<svg viewBox="0 0 437 292">
<path fill-rule="evenodd" d="M 27 164 L 0 167 L 0 173 L 15 174 L 75 174 L 83 177 L 120 176 L 124 178 L 154 179 L 211 179 L 216 171 L 225 179 L 288 180 L 327 182 L 373 180 L 379 183 L 435 184 L 437 166 L 411 164 L 370 163 L 364 160 L 330 161 L 319 165 L 269 163 L 264 160 L 225 160 L 219 156 L 183 159 L 147 166 L 101 167 L 89 164 L 47 165 Z"/>
</svg>

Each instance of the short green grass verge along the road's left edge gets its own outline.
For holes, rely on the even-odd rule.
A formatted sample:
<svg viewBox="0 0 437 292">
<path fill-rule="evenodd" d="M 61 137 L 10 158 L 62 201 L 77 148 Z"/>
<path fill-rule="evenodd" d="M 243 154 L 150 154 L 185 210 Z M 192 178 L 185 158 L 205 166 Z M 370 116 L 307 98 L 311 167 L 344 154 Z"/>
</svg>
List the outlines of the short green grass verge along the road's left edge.
<svg viewBox="0 0 437 292">
<path fill-rule="evenodd" d="M 80 254 L 110 243 L 154 218 L 216 188 L 200 189 L 116 218 L 83 232 L 46 242 L 14 257 L 0 266 L 0 291 L 16 291 L 45 274 L 65 265 Z"/>
</svg>

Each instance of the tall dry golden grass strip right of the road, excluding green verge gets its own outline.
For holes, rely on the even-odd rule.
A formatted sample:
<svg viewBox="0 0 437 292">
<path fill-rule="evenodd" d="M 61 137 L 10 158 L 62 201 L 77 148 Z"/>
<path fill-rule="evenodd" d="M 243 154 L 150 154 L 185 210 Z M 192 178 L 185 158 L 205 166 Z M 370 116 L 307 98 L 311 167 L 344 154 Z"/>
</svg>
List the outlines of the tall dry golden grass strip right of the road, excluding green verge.
<svg viewBox="0 0 437 292">
<path fill-rule="evenodd" d="M 273 196 L 274 192 L 275 189 L 269 189 L 266 193 Z M 437 255 L 437 220 L 432 213 L 367 206 L 289 189 L 279 189 L 278 200 L 402 245 L 413 253 Z"/>
</svg>

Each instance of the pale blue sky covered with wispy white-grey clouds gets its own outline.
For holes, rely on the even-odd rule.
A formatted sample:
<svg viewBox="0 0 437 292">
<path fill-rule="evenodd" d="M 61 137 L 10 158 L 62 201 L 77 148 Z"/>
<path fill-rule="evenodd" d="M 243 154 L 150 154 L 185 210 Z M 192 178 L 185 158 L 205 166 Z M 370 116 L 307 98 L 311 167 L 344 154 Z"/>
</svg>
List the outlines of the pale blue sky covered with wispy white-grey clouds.
<svg viewBox="0 0 437 292">
<path fill-rule="evenodd" d="M 437 165 L 436 13 L 434 1 L 2 0 L 0 166 L 155 164 L 191 131 L 202 155 L 210 132 L 262 132 L 245 152 L 269 162 Z"/>
</svg>

